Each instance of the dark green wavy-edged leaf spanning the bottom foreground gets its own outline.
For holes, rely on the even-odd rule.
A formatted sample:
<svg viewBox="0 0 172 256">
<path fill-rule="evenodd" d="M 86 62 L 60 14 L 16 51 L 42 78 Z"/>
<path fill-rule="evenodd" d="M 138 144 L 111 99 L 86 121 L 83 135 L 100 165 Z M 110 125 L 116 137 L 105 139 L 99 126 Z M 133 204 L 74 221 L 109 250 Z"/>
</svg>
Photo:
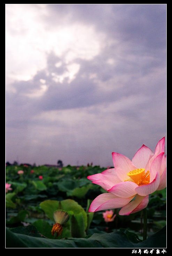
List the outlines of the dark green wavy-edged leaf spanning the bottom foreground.
<svg viewBox="0 0 172 256">
<path fill-rule="evenodd" d="M 87 239 L 55 240 L 17 234 L 13 233 L 12 229 L 6 228 L 6 248 L 166 248 L 166 227 L 140 243 L 130 242 L 122 231 L 94 234 Z"/>
</svg>

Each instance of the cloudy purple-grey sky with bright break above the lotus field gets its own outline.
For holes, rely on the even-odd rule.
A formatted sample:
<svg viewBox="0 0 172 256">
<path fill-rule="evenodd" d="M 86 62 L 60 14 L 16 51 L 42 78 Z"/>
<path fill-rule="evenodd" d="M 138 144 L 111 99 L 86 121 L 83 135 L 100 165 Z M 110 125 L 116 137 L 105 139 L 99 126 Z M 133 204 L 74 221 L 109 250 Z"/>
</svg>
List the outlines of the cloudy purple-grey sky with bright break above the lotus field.
<svg viewBox="0 0 172 256">
<path fill-rule="evenodd" d="M 166 136 L 166 4 L 6 4 L 6 162 L 113 166 Z"/>
</svg>

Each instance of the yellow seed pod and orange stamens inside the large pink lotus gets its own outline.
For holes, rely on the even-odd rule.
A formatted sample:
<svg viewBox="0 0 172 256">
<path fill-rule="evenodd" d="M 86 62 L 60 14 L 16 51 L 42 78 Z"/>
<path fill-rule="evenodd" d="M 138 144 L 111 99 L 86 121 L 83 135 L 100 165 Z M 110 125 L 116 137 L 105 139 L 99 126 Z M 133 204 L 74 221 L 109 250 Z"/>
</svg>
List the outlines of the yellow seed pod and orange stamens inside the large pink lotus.
<svg viewBox="0 0 172 256">
<path fill-rule="evenodd" d="M 130 179 L 126 181 L 132 181 L 135 182 L 137 185 L 146 185 L 150 182 L 150 171 L 147 171 L 144 173 L 145 169 L 140 168 L 136 170 L 132 170 L 127 175 L 130 177 Z"/>
</svg>

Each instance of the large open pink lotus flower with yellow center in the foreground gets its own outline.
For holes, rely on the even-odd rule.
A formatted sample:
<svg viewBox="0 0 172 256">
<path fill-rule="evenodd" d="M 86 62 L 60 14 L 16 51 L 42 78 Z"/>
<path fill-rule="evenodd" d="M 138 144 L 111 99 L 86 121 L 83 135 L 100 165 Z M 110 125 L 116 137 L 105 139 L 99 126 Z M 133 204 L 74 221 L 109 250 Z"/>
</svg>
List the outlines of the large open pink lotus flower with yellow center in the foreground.
<svg viewBox="0 0 172 256">
<path fill-rule="evenodd" d="M 122 208 L 119 215 L 129 215 L 146 208 L 149 194 L 166 188 L 165 138 L 158 141 L 155 152 L 143 145 L 132 161 L 113 152 L 114 167 L 88 176 L 108 193 L 97 196 L 88 212 Z"/>
</svg>

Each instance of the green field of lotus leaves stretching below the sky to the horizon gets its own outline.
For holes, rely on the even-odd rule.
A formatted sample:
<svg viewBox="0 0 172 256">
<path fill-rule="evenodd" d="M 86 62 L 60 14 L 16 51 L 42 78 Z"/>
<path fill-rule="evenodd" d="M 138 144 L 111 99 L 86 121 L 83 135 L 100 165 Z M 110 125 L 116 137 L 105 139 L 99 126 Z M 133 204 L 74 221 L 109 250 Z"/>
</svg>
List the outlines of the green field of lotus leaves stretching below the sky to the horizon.
<svg viewBox="0 0 172 256">
<path fill-rule="evenodd" d="M 148 239 L 144 242 L 142 211 L 120 216 L 116 209 L 114 221 L 108 223 L 104 211 L 88 212 L 92 200 L 106 191 L 87 176 L 105 169 L 6 166 L 6 183 L 12 188 L 6 193 L 6 248 L 144 248 L 155 241 L 157 248 L 160 243 L 166 248 L 166 189 L 149 195 Z M 24 173 L 18 174 L 19 170 Z M 58 209 L 67 211 L 70 219 L 53 240 L 53 212 Z M 157 240 L 157 234 L 163 234 L 163 239 Z"/>
</svg>

